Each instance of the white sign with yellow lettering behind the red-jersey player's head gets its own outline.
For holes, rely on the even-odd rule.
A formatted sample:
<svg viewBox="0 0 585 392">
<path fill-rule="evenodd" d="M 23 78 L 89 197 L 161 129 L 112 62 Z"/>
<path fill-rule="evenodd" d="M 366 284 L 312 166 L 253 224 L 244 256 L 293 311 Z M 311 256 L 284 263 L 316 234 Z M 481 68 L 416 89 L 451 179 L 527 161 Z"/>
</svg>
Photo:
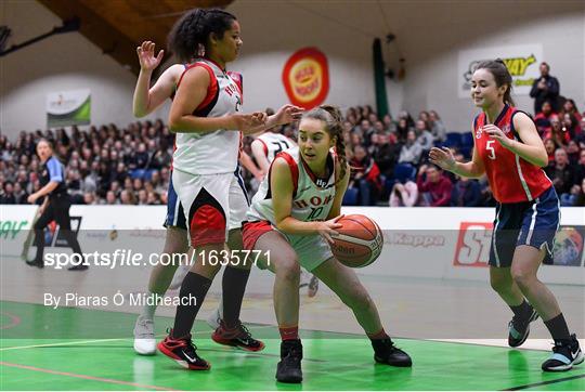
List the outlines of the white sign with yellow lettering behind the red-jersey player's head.
<svg viewBox="0 0 585 392">
<path fill-rule="evenodd" d="M 479 63 L 485 60 L 502 58 L 512 76 L 514 92 L 529 95 L 532 82 L 541 76 L 538 65 L 543 62 L 542 44 L 494 47 L 459 51 L 457 67 L 457 91 L 459 97 L 468 97 L 471 90 L 471 76 Z"/>
</svg>

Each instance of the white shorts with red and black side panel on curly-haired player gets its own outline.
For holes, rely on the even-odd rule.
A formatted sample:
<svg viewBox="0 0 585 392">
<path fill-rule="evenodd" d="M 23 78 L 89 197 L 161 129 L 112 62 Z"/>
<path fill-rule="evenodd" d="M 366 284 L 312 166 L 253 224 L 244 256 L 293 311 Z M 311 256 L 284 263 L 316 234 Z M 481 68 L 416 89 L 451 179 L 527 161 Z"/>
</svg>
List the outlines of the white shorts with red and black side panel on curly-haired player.
<svg viewBox="0 0 585 392">
<path fill-rule="evenodd" d="M 242 228 L 249 205 L 239 168 L 234 173 L 204 175 L 176 169 L 172 183 L 183 206 L 192 247 L 223 244 L 230 230 Z"/>
</svg>

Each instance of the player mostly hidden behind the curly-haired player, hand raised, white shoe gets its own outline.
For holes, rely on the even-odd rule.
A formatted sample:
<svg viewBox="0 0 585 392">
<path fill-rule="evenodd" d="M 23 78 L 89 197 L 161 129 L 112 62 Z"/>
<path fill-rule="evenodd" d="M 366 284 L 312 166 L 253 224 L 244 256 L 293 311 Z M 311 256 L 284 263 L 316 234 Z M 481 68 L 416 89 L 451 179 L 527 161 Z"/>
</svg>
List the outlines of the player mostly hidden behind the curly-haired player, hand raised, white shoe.
<svg viewBox="0 0 585 392">
<path fill-rule="evenodd" d="M 164 51 L 159 51 L 155 56 L 155 43 L 144 41 L 136 48 L 140 62 L 140 75 L 136 81 L 133 96 L 133 113 L 135 117 L 144 117 L 156 110 L 167 99 L 173 99 L 177 90 L 177 83 L 187 67 L 187 64 L 174 64 L 168 67 L 151 88 L 151 76 L 153 70 L 160 64 Z M 242 80 L 237 74 L 233 73 L 242 88 Z M 253 175 L 260 175 L 251 158 L 242 152 L 240 162 L 252 172 Z M 250 166 L 251 164 L 251 166 Z M 172 166 L 171 166 L 172 170 Z M 234 174 L 235 175 L 235 174 Z M 166 254 L 186 254 L 188 251 L 188 241 L 186 236 L 186 223 L 177 192 L 174 191 L 172 180 L 167 191 L 167 215 L 164 226 L 166 227 L 166 238 L 162 252 Z M 172 259 L 177 260 L 177 259 Z M 151 272 L 148 279 L 148 295 L 159 297 L 165 296 L 169 287 L 181 285 L 183 277 L 188 272 L 190 265 L 181 265 L 177 272 L 177 264 L 156 265 Z M 134 351 L 142 355 L 153 355 L 156 353 L 156 340 L 154 337 L 154 314 L 158 303 L 145 304 L 134 325 Z M 219 325 L 218 318 L 221 318 L 220 308 L 213 313 L 213 329 Z"/>
</svg>

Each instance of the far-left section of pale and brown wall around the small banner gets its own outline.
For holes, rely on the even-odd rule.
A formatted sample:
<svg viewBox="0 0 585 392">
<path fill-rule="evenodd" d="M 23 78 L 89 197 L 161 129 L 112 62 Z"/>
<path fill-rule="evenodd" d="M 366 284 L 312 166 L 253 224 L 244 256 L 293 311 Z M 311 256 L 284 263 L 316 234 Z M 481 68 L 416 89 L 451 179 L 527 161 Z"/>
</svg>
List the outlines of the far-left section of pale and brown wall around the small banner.
<svg viewBox="0 0 585 392">
<path fill-rule="evenodd" d="M 36 1 L 8 0 L 0 24 L 12 29 L 9 45 L 50 31 L 61 19 Z M 47 127 L 49 92 L 91 90 L 91 121 L 126 126 L 133 120 L 135 77 L 78 32 L 50 37 L 0 57 L 0 129 L 13 138 L 21 130 Z"/>
</svg>

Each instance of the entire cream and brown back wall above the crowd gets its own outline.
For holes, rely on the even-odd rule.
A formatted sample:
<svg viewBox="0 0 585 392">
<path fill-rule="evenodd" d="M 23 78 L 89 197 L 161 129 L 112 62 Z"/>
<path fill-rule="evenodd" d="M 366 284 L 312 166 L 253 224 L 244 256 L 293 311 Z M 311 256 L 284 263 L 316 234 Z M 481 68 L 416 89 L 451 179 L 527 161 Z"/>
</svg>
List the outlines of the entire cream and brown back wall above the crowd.
<svg viewBox="0 0 585 392">
<path fill-rule="evenodd" d="M 11 43 L 61 24 L 32 1 L 8 0 L 0 8 L 1 23 L 13 30 Z M 467 131 L 476 108 L 457 96 L 458 51 L 521 42 L 543 45 L 561 93 L 585 109 L 585 1 L 339 0 L 332 6 L 323 1 L 238 0 L 227 10 L 242 24 L 244 48 L 230 68 L 244 74 L 246 110 L 288 102 L 281 73 L 290 54 L 304 47 L 317 47 L 327 55 L 328 103 L 342 108 L 374 105 L 372 43 L 389 31 L 396 40 L 382 45 L 385 58 L 395 68 L 400 47 L 407 71 L 400 82 L 387 81 L 394 115 L 402 108 L 415 115 L 434 108 L 451 130 Z M 134 76 L 79 34 L 55 36 L 1 57 L 0 71 L 0 129 L 9 135 L 44 128 L 44 96 L 61 89 L 92 90 L 95 125 L 133 120 Z M 530 97 L 517 96 L 517 102 L 532 109 Z M 167 115 L 168 105 L 151 118 Z"/>
</svg>

